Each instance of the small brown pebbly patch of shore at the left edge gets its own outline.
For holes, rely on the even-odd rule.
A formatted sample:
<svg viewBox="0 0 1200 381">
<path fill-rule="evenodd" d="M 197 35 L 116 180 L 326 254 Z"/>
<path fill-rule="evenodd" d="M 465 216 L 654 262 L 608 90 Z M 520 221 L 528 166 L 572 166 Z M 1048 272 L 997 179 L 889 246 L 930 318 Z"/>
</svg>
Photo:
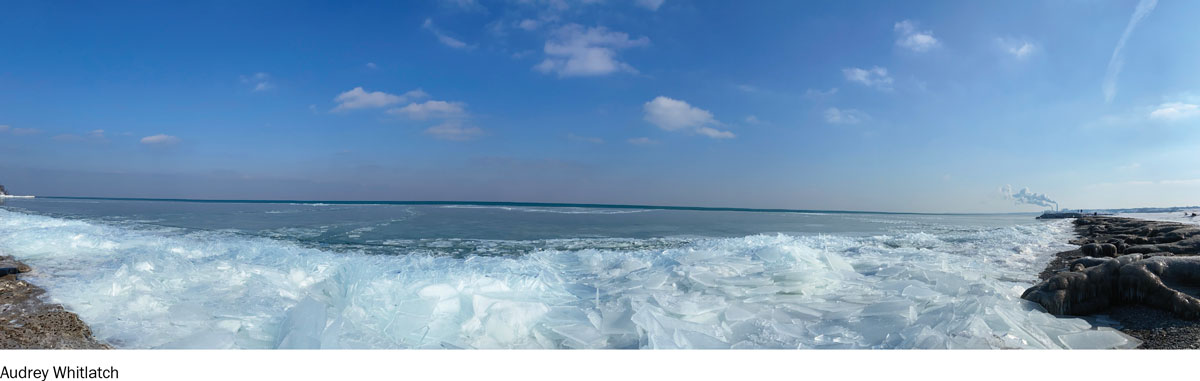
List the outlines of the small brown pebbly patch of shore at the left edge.
<svg viewBox="0 0 1200 381">
<path fill-rule="evenodd" d="M 79 316 L 42 301 L 44 290 L 18 278 L 29 271 L 0 255 L 0 349 L 110 349 Z"/>
</svg>

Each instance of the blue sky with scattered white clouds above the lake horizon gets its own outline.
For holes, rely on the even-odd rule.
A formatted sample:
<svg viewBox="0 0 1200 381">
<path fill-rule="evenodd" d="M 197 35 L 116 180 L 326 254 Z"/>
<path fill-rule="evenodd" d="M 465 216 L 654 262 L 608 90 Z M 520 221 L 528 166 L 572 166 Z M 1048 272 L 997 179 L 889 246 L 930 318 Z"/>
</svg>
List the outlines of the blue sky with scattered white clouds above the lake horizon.
<svg viewBox="0 0 1200 381">
<path fill-rule="evenodd" d="M 13 193 L 1200 205 L 1198 1 L 0 8 Z"/>
</svg>

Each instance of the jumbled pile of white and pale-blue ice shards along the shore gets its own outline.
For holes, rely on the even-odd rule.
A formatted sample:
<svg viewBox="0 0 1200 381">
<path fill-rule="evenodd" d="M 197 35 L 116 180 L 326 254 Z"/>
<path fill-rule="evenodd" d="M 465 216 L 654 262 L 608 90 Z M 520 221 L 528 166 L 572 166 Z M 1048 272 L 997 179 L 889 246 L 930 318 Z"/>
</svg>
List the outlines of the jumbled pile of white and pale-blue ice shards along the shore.
<svg viewBox="0 0 1200 381">
<path fill-rule="evenodd" d="M 364 255 L 0 210 L 0 250 L 119 347 L 1128 347 L 1019 298 L 1063 223 Z M 587 240 L 581 240 L 587 241 Z M 1040 255 L 1040 258 L 1039 258 Z"/>
</svg>

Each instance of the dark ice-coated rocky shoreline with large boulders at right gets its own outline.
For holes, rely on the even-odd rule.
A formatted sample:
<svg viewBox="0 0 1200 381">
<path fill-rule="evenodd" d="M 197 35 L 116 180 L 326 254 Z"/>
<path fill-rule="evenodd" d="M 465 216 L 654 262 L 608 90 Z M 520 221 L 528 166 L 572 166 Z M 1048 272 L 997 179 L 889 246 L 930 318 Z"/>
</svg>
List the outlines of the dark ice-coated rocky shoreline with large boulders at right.
<svg viewBox="0 0 1200 381">
<path fill-rule="evenodd" d="M 1200 349 L 1200 226 L 1079 217 L 1080 248 L 1057 253 L 1021 296 L 1142 340 L 1140 349 Z"/>
</svg>

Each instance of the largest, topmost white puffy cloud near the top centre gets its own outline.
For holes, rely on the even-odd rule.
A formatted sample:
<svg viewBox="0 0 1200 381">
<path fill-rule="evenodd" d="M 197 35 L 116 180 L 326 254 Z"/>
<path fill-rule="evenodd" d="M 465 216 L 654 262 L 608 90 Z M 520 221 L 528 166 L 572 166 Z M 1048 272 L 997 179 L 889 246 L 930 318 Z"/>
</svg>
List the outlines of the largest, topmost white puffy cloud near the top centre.
<svg viewBox="0 0 1200 381">
<path fill-rule="evenodd" d="M 562 26 L 546 41 L 546 59 L 534 66 L 542 73 L 558 77 L 605 75 L 614 72 L 637 73 L 629 64 L 617 60 L 617 50 L 644 47 L 649 38 L 629 38 L 628 34 L 610 31 L 604 26 L 584 28 L 578 24 Z"/>
</svg>

